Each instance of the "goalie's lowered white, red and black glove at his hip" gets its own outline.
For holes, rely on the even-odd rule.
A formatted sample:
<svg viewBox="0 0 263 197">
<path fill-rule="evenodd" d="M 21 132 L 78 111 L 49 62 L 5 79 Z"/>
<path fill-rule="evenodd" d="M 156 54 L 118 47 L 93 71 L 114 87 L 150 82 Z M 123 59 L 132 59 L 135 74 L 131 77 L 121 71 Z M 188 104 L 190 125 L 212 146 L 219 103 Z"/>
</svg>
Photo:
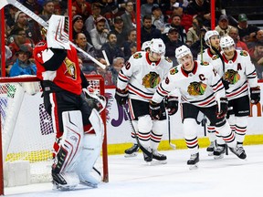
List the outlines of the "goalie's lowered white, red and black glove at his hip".
<svg viewBox="0 0 263 197">
<path fill-rule="evenodd" d="M 96 109 L 99 113 L 106 108 L 107 100 L 93 88 L 82 88 L 86 101 L 91 109 Z"/>
</svg>

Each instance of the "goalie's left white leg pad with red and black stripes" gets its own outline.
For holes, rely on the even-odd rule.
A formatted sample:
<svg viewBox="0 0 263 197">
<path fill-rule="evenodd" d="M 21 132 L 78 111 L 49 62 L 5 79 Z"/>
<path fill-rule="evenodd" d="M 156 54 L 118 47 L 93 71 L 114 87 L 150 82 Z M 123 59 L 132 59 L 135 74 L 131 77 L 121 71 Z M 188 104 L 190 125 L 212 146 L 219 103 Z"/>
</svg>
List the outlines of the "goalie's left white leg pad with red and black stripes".
<svg viewBox="0 0 263 197">
<path fill-rule="evenodd" d="M 74 170 L 83 138 L 83 123 L 79 110 L 64 111 L 62 119 L 64 132 L 53 164 L 54 173 Z"/>
</svg>

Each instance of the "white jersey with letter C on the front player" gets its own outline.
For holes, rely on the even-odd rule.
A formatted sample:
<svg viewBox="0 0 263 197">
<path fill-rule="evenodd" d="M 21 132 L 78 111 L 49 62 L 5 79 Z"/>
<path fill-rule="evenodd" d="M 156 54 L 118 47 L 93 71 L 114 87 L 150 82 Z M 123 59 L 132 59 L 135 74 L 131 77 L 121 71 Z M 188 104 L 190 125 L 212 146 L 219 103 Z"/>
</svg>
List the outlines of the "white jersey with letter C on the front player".
<svg viewBox="0 0 263 197">
<path fill-rule="evenodd" d="M 216 105 L 216 101 L 225 98 L 222 80 L 212 65 L 196 60 L 191 73 L 186 73 L 182 64 L 173 67 L 153 95 L 153 101 L 160 103 L 169 92 L 178 88 L 182 103 L 191 103 L 206 108 Z"/>
</svg>

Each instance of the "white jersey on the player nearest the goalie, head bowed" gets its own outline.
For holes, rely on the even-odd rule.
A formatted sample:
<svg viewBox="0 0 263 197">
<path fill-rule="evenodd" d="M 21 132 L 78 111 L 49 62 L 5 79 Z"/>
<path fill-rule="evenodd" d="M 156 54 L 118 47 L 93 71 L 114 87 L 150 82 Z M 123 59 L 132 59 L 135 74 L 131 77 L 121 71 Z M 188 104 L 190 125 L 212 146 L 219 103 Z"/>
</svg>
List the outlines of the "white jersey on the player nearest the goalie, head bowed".
<svg viewBox="0 0 263 197">
<path fill-rule="evenodd" d="M 137 52 L 121 68 L 117 88 L 128 88 L 130 99 L 149 101 L 172 67 L 173 62 L 168 57 L 151 62 L 149 53 Z"/>
</svg>

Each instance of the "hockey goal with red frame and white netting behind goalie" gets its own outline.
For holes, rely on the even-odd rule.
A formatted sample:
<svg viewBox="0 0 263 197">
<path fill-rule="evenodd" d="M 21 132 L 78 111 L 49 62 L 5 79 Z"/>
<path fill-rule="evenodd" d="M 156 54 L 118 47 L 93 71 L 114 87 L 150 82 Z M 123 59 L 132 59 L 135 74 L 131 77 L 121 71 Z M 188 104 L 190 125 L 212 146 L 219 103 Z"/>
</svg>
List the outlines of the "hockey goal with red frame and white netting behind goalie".
<svg viewBox="0 0 263 197">
<path fill-rule="evenodd" d="M 86 78 L 100 95 L 105 95 L 104 79 L 100 75 Z M 41 94 L 39 79 L 36 77 L 0 78 L 0 195 L 4 194 L 4 167 L 8 162 L 30 163 L 30 183 L 51 181 L 55 133 Z M 100 169 L 102 181 L 108 182 L 105 110 L 100 115 L 105 129 Z"/>
</svg>

